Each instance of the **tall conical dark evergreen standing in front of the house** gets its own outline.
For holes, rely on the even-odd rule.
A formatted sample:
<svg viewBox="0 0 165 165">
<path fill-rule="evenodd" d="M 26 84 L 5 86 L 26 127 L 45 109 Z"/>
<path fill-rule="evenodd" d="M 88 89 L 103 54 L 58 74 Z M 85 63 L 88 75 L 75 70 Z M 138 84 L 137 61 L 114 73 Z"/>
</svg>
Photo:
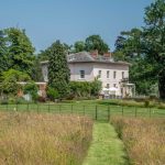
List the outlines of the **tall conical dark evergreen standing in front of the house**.
<svg viewBox="0 0 165 165">
<path fill-rule="evenodd" d="M 59 41 L 52 44 L 48 61 L 48 87 L 58 91 L 61 98 L 69 91 L 70 73 L 65 45 Z"/>
</svg>

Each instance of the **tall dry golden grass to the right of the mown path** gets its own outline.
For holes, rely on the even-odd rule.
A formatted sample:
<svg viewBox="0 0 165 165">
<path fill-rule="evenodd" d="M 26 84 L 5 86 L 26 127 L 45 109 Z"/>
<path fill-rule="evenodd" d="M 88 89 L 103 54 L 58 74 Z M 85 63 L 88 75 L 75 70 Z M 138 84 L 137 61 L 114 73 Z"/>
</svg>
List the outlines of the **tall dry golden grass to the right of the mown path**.
<svg viewBox="0 0 165 165">
<path fill-rule="evenodd" d="M 165 119 L 111 119 L 131 164 L 165 165 Z"/>
</svg>

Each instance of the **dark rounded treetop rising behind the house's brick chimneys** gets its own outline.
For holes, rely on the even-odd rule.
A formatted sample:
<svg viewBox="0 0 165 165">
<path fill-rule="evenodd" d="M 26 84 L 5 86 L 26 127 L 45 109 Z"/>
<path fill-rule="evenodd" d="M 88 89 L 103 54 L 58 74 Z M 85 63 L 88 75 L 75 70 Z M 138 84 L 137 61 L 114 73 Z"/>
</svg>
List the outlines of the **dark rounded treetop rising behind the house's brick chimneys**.
<svg viewBox="0 0 165 165">
<path fill-rule="evenodd" d="M 98 50 L 99 54 L 107 53 L 109 51 L 108 44 L 101 38 L 100 35 L 90 35 L 86 38 L 86 51 Z"/>
</svg>

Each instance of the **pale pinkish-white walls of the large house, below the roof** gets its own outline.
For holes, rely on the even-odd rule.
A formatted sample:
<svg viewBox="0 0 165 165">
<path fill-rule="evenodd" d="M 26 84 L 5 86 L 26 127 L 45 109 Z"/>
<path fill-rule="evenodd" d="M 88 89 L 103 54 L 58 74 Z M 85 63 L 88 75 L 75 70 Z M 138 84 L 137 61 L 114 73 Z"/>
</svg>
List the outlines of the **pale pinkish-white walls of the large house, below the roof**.
<svg viewBox="0 0 165 165">
<path fill-rule="evenodd" d="M 121 94 L 121 79 L 122 72 L 124 73 L 124 78 L 129 78 L 129 65 L 122 64 L 112 64 L 112 63 L 69 63 L 70 69 L 70 80 L 75 81 L 92 81 L 95 77 L 99 75 L 101 70 L 101 77 L 99 78 L 102 81 L 102 88 L 106 88 L 109 84 L 109 88 L 114 87 L 119 90 L 116 92 L 118 96 L 124 96 Z M 85 70 L 85 78 L 80 78 L 80 70 Z M 107 72 L 109 70 L 109 78 L 107 77 Z M 116 72 L 116 78 L 113 73 Z M 47 64 L 42 65 L 42 73 L 45 81 L 48 81 L 48 72 Z"/>
</svg>

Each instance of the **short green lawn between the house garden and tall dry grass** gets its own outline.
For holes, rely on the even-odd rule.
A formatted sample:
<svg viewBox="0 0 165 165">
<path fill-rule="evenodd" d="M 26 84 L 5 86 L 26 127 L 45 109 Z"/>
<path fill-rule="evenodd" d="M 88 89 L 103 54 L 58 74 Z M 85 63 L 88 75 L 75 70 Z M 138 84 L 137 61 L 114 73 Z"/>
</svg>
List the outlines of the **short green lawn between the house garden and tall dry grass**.
<svg viewBox="0 0 165 165">
<path fill-rule="evenodd" d="M 117 102 L 118 101 L 118 102 Z M 86 100 L 61 103 L 26 103 L 26 105 L 0 105 L 0 110 L 4 111 L 35 111 L 52 112 L 62 114 L 85 114 L 97 120 L 109 120 L 110 116 L 129 116 L 129 117 L 165 117 L 165 109 L 157 107 L 145 108 L 144 102 L 122 101 L 121 100 Z M 131 105 L 132 103 L 132 105 Z M 122 105 L 122 106 L 121 106 Z"/>
</svg>

